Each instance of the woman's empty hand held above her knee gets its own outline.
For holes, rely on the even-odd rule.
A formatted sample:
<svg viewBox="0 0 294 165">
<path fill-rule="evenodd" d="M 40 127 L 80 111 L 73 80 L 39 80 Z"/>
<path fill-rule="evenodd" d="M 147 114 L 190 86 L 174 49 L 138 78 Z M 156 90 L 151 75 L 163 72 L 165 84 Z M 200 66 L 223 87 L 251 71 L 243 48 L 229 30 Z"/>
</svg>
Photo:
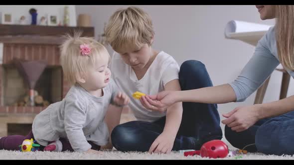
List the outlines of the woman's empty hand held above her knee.
<svg viewBox="0 0 294 165">
<path fill-rule="evenodd" d="M 237 107 L 231 112 L 223 114 L 227 119 L 222 120 L 222 123 L 231 127 L 233 131 L 244 131 L 260 119 L 260 110 L 259 104 Z"/>
</svg>

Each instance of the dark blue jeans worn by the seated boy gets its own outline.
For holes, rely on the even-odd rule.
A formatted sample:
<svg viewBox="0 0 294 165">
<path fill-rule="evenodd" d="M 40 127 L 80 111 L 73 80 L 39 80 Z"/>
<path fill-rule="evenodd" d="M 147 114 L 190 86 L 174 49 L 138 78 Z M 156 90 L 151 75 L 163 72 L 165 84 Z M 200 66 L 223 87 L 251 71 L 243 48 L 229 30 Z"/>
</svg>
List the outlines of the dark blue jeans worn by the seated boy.
<svg viewBox="0 0 294 165">
<path fill-rule="evenodd" d="M 182 90 L 212 86 L 205 66 L 195 60 L 181 65 L 179 82 Z M 165 117 L 152 123 L 131 121 L 118 125 L 111 134 L 112 145 L 123 152 L 147 152 L 162 133 L 164 124 Z M 214 139 L 222 139 L 217 105 L 183 102 L 182 121 L 172 150 L 199 150 L 203 143 Z"/>
</svg>

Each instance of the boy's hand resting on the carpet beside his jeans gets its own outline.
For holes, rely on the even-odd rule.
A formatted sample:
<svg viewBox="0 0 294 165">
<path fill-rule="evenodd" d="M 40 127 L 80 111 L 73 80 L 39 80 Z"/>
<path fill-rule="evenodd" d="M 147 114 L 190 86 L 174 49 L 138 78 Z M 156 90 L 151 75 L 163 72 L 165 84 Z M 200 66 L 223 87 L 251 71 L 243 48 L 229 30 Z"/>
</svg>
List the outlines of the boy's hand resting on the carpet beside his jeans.
<svg viewBox="0 0 294 165">
<path fill-rule="evenodd" d="M 171 152 L 175 136 L 162 132 L 152 143 L 149 153 L 168 154 Z"/>
</svg>

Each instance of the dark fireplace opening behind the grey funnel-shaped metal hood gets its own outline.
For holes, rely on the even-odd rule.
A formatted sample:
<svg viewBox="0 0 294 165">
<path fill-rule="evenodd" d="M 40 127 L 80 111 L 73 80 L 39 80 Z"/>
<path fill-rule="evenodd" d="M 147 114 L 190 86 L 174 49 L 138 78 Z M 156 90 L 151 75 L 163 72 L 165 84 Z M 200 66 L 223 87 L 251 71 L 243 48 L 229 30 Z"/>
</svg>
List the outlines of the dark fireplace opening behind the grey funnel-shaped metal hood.
<svg viewBox="0 0 294 165">
<path fill-rule="evenodd" d="M 2 106 L 30 106 L 29 87 L 13 64 L 2 65 Z M 35 106 L 62 100 L 62 68 L 47 66 L 34 88 Z"/>
</svg>

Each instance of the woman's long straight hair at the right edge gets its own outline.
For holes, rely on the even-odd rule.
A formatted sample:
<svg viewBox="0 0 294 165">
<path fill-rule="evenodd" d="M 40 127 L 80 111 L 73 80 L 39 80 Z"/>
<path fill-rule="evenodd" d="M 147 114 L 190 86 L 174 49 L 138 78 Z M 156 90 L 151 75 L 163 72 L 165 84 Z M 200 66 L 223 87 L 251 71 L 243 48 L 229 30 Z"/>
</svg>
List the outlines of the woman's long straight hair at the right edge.
<svg viewBox="0 0 294 165">
<path fill-rule="evenodd" d="M 294 5 L 276 5 L 278 56 L 285 69 L 294 71 Z"/>
</svg>

